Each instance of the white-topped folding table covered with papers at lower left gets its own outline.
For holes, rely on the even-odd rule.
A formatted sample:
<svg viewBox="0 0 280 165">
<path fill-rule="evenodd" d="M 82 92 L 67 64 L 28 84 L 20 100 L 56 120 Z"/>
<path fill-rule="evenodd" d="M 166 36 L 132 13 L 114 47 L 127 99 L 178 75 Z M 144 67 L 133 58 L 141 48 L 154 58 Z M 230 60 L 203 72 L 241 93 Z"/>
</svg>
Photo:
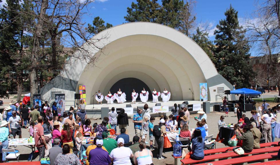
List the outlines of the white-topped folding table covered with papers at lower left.
<svg viewBox="0 0 280 165">
<path fill-rule="evenodd" d="M 32 150 L 31 161 L 32 161 L 33 153 L 35 152 L 35 139 L 34 138 L 32 138 L 32 141 L 30 141 L 30 138 L 9 139 L 9 146 L 26 146 L 28 148 L 31 148 L 31 150 Z"/>
</svg>

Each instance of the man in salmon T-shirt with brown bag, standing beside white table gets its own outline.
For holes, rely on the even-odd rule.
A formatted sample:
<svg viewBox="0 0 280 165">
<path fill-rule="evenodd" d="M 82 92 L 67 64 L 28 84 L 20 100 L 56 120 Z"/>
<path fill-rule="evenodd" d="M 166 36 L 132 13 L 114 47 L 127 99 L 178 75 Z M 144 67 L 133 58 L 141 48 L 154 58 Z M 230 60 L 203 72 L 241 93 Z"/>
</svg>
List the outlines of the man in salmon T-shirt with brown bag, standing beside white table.
<svg viewBox="0 0 280 165">
<path fill-rule="evenodd" d="M 38 124 L 34 126 L 34 139 L 35 139 L 35 146 L 39 151 L 39 161 L 45 156 L 45 150 L 48 149 L 45 136 L 44 136 L 44 128 L 42 127 L 43 117 L 38 117 Z M 42 141 L 40 141 L 40 138 Z"/>
</svg>

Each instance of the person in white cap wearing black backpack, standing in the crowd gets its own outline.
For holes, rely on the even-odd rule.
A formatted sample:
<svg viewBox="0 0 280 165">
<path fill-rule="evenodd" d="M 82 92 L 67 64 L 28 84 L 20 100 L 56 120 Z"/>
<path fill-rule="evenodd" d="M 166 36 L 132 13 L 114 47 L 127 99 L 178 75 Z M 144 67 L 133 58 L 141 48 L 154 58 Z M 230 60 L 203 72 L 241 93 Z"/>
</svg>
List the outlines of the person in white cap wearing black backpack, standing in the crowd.
<svg viewBox="0 0 280 165">
<path fill-rule="evenodd" d="M 160 119 L 159 125 L 155 125 L 153 129 L 153 136 L 157 142 L 158 149 L 158 160 L 164 159 L 162 158 L 163 144 L 164 144 L 164 136 L 166 135 L 166 127 L 164 119 Z"/>
</svg>

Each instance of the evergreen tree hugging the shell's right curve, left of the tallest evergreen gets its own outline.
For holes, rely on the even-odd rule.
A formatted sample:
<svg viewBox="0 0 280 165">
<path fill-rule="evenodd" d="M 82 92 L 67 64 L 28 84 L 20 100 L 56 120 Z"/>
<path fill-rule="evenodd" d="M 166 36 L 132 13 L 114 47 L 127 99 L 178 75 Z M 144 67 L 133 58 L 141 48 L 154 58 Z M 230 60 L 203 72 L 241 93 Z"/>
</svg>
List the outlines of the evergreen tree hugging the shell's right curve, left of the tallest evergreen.
<svg viewBox="0 0 280 165">
<path fill-rule="evenodd" d="M 193 41 L 195 41 L 209 56 L 209 58 L 215 63 L 216 59 L 213 55 L 213 43 L 208 38 L 208 33 L 206 31 L 201 31 L 199 27 L 196 29 L 196 33 L 192 36 Z"/>
</svg>

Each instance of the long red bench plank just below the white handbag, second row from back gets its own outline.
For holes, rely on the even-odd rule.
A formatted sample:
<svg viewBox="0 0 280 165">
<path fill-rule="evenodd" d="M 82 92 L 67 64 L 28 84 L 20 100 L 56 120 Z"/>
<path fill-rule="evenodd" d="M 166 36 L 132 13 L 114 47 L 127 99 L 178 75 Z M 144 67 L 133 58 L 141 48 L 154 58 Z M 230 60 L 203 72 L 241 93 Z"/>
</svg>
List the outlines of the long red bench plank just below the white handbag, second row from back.
<svg viewBox="0 0 280 165">
<path fill-rule="evenodd" d="M 267 153 L 267 152 L 277 152 L 277 151 L 279 151 L 279 149 L 280 149 L 280 146 L 270 147 L 270 148 L 258 148 L 258 149 L 253 149 L 252 152 L 250 152 L 250 153 L 244 153 L 244 155 L 252 155 L 252 154 Z M 181 162 L 183 164 L 193 164 L 193 163 L 205 162 L 205 161 L 209 161 L 209 160 L 218 161 L 219 159 L 222 159 L 222 158 L 231 158 L 231 157 L 235 157 L 235 156 L 239 156 L 239 155 L 236 154 L 235 152 L 226 152 L 226 153 L 221 153 L 221 154 L 207 155 L 207 156 L 204 156 L 204 158 L 202 160 L 183 159 L 183 160 L 181 160 Z"/>
</svg>

